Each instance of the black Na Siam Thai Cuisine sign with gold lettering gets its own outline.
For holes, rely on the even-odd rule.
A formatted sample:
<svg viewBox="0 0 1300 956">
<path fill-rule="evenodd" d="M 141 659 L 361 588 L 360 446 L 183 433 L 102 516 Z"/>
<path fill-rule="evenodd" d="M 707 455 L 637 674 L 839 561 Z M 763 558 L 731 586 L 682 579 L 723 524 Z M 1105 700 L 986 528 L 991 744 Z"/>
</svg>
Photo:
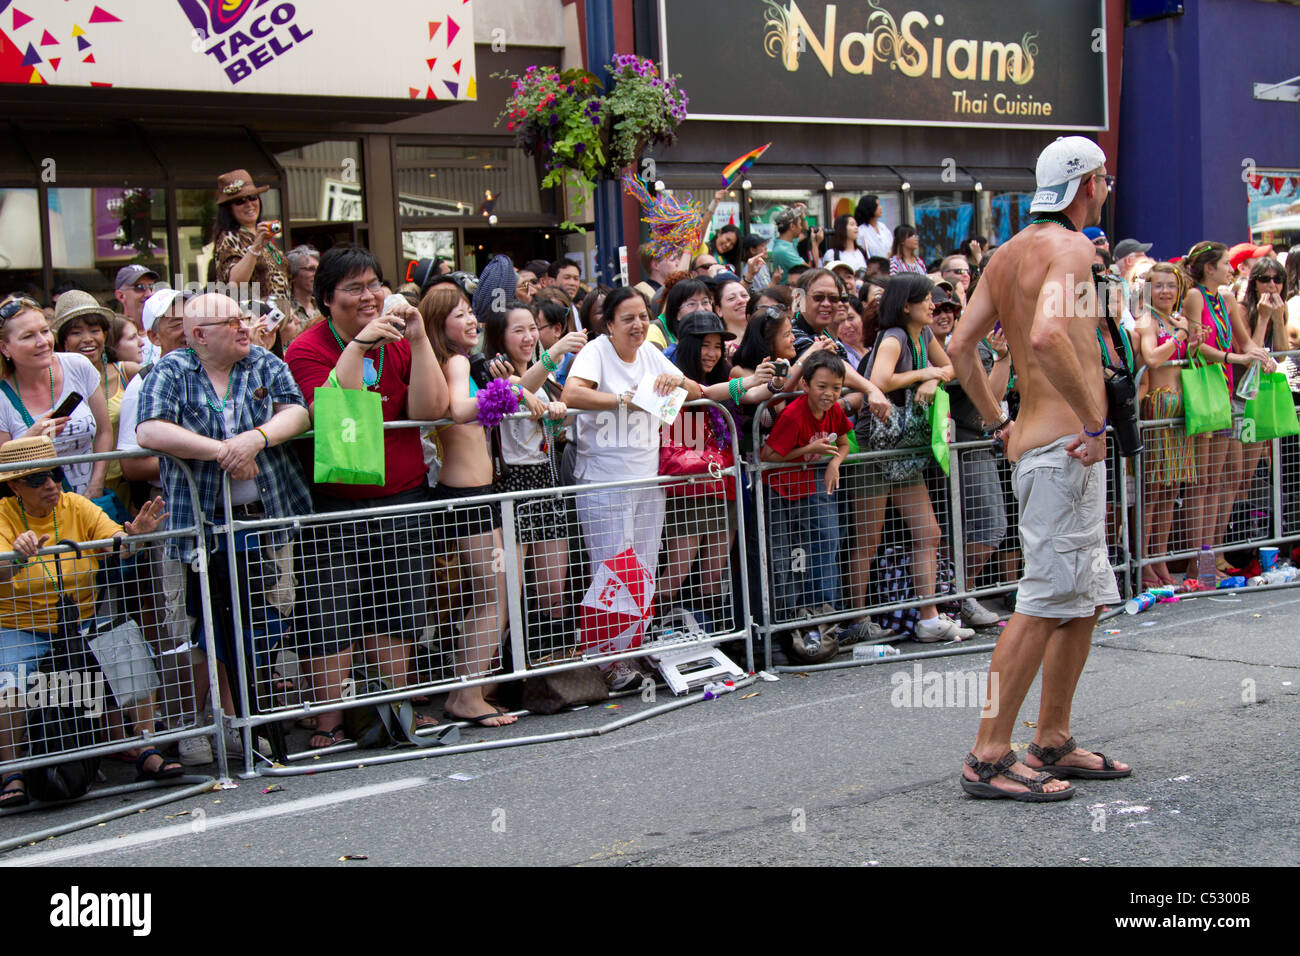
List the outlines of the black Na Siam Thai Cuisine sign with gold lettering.
<svg viewBox="0 0 1300 956">
<path fill-rule="evenodd" d="M 1102 0 L 659 0 L 693 120 L 1106 129 Z"/>
</svg>

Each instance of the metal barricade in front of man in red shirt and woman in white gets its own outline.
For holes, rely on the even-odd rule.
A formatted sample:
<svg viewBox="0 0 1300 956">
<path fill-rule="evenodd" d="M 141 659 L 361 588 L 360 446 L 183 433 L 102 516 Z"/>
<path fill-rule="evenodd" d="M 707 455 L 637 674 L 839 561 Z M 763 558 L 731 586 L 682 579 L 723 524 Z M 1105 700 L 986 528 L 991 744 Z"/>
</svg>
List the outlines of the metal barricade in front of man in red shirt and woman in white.
<svg viewBox="0 0 1300 956">
<path fill-rule="evenodd" d="M 705 407 L 723 412 L 732 454 L 740 460 L 734 421 L 725 408 L 702 401 L 688 403 L 686 410 Z M 614 412 L 573 412 L 602 414 Z M 447 424 L 389 423 L 387 427 L 428 429 Z M 217 533 L 230 562 L 231 606 L 265 604 L 266 594 L 280 594 L 282 602 L 296 605 L 286 628 L 291 640 L 278 648 L 292 649 L 300 666 L 299 693 L 286 697 L 277 692 L 270 676 L 272 652 L 277 649 L 273 646 L 277 643 L 268 640 L 272 628 L 259 628 L 256 613 L 247 622 L 244 614 L 233 615 L 239 683 L 255 688 L 231 722 L 243 735 L 242 773 L 285 775 L 376 762 L 372 752 L 361 752 L 351 743 L 296 753 L 286 749 L 280 754 L 282 760 L 256 761 L 255 753 L 263 749 L 255 740 L 257 730 L 287 719 L 334 715 L 382 702 L 732 641 L 741 645 L 744 666 L 753 671 L 745 529 L 737 520 L 737 503 L 716 497 L 723 481 L 741 481 L 741 471 L 740 466 L 732 466 L 689 477 L 575 484 L 292 519 L 237 520 L 225 496 L 226 514 Z M 623 527 L 612 537 L 606 535 L 601 548 L 592 550 L 592 528 L 601 522 Z M 624 541 L 624 533 L 633 541 Z M 406 544 L 403 555 L 389 551 L 395 542 Z M 528 544 L 533 558 L 523 575 L 521 542 Z M 633 544 L 633 550 L 628 553 L 624 544 Z M 738 561 L 731 558 L 733 549 Z M 286 558 L 286 550 L 295 553 Z M 352 550 L 367 559 L 359 562 L 350 554 Z M 545 575 L 537 574 L 540 553 L 545 555 L 541 558 L 547 567 Z M 240 558 L 247 554 L 259 558 Z M 705 567 L 692 572 L 697 558 L 703 558 Z M 242 562 L 247 563 L 240 566 Z M 330 614 L 304 613 L 303 602 L 312 600 L 308 575 L 325 566 L 346 566 L 364 576 L 360 564 L 377 562 L 390 566 L 384 571 L 385 580 L 406 581 L 396 596 L 365 593 L 373 604 L 364 615 L 372 622 L 364 636 L 374 639 L 369 666 L 380 662 L 386 687 L 380 689 L 356 678 L 363 669 L 354 649 L 347 667 L 337 667 L 321 682 L 322 691 L 307 675 L 313 667 L 325 670 L 318 662 L 333 656 L 328 652 L 337 650 L 341 636 L 333 630 L 335 622 Z M 286 576 L 294 581 L 286 584 Z M 525 587 L 537 578 L 550 588 Z M 654 585 L 653 594 L 646 589 L 647 583 Z M 286 588 L 294 592 L 292 597 L 283 597 Z M 326 589 L 317 591 L 320 600 L 333 600 Z M 733 593 L 740 596 L 737 606 Z M 551 613 L 556 609 L 562 611 L 558 618 Z M 280 611 L 282 615 L 283 607 Z M 246 637 L 250 624 L 255 631 L 251 641 Z M 399 635 L 396 640 L 380 640 L 394 633 Z M 250 645 L 255 649 L 252 657 Z M 332 723 L 334 719 L 330 717 Z M 446 726 L 446 721 L 439 726 Z M 332 727 L 317 721 L 317 730 L 328 732 Z M 433 735 L 438 732 L 434 728 Z M 589 731 L 525 737 L 495 734 L 498 740 L 481 744 L 400 750 L 393 756 L 459 753 L 585 736 Z M 272 743 L 268 736 L 263 745 Z M 320 757 L 342 758 L 322 763 Z"/>
</svg>

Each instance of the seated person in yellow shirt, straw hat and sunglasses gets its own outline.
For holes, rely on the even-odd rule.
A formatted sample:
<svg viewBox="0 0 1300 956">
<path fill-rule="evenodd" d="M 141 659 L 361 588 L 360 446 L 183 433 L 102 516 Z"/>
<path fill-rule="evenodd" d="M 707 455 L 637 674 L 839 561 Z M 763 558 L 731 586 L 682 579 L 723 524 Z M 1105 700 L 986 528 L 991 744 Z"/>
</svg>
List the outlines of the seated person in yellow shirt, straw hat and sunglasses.
<svg viewBox="0 0 1300 956">
<path fill-rule="evenodd" d="M 46 436 L 14 438 L 0 446 L 0 485 L 8 486 L 14 496 L 0 499 L 0 554 L 12 553 L 8 559 L 0 559 L 0 682 L 6 693 L 10 688 L 17 689 L 17 700 L 23 700 L 27 689 L 17 687 L 18 679 L 36 671 L 58 637 L 60 571 L 62 593 L 74 598 L 78 622 L 91 617 L 95 605 L 98 554 L 36 557 L 36 553 L 64 540 L 103 541 L 148 535 L 165 516 L 162 499 L 155 498 L 140 509 L 134 522 L 120 525 L 90 498 L 64 492 L 61 468 L 26 466 L 55 457 L 55 445 Z M 152 728 L 152 698 L 133 705 L 129 711 L 136 734 Z M 17 760 L 25 723 L 21 706 L 0 708 L 0 763 Z M 182 773 L 179 763 L 164 760 L 153 747 L 140 753 L 136 770 L 139 779 Z M 0 788 L 0 808 L 27 803 L 21 773 L 5 774 Z"/>
</svg>

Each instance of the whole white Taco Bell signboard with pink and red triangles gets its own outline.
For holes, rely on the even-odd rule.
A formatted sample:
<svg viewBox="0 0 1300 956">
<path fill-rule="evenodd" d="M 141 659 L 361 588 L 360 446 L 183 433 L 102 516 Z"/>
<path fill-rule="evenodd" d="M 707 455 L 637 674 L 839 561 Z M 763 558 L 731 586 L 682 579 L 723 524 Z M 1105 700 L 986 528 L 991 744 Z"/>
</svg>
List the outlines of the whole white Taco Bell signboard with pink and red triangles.
<svg viewBox="0 0 1300 956">
<path fill-rule="evenodd" d="M 473 0 L 0 0 L 0 85 L 473 100 Z"/>
</svg>

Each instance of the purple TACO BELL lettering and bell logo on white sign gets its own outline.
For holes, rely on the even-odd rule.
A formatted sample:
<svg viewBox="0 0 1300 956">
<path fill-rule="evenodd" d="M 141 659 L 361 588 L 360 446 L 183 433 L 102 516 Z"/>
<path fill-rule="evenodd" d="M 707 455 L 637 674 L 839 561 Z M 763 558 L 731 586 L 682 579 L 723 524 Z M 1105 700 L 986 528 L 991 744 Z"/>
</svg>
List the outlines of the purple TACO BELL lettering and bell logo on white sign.
<svg viewBox="0 0 1300 956">
<path fill-rule="evenodd" d="M 311 39 L 313 31 L 291 3 L 269 0 L 177 0 L 204 42 L 203 52 L 221 64 L 235 86 L 255 70 Z"/>
</svg>

